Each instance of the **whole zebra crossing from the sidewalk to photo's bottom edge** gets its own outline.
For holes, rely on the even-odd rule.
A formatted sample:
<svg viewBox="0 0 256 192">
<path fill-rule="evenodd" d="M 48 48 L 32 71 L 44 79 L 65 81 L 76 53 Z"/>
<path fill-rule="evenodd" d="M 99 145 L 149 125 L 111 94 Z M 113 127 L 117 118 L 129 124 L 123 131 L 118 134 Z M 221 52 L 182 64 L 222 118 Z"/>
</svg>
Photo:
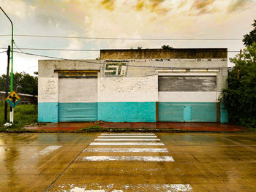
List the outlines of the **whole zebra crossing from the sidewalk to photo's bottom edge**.
<svg viewBox="0 0 256 192">
<path fill-rule="evenodd" d="M 154 182 L 157 181 L 157 178 L 151 176 L 152 174 L 149 172 L 154 169 L 159 172 L 159 169 L 161 169 L 159 166 L 167 168 L 172 167 L 170 164 L 175 164 L 173 163 L 175 162 L 173 156 L 169 154 L 165 144 L 161 142 L 156 134 L 100 134 L 83 150 L 80 158 L 78 158 L 79 164 L 87 165 L 89 170 L 96 169 L 96 173 L 93 172 L 92 174 L 94 177 L 87 177 L 89 179 L 86 180 L 84 185 L 69 185 L 69 191 L 192 191 L 189 184 L 166 184 L 165 179 L 159 179 L 159 184 Z M 139 169 L 142 172 L 141 174 L 138 171 Z M 159 174 L 161 173 L 159 172 Z M 129 175 L 132 175 L 132 178 L 127 179 L 128 183 L 126 184 L 125 180 L 121 178 L 126 178 Z M 120 177 L 120 180 L 115 179 L 118 177 Z M 150 177 L 154 177 L 152 183 L 148 183 Z M 99 178 L 102 178 L 103 181 Z M 144 180 L 145 178 L 146 180 Z M 59 185 L 59 188 L 67 188 L 67 186 Z"/>
</svg>

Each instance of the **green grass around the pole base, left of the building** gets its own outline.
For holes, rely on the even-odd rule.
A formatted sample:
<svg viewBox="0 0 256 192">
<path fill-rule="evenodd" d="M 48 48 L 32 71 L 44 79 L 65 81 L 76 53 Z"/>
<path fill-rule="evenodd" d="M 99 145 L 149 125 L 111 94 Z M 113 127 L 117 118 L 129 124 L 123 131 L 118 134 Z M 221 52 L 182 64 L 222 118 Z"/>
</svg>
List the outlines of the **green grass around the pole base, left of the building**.
<svg viewBox="0 0 256 192">
<path fill-rule="evenodd" d="M 8 104 L 7 122 L 10 119 L 10 105 Z M 20 129 L 31 123 L 37 123 L 37 105 L 18 104 L 14 110 L 14 124 L 10 127 L 4 127 L 4 101 L 0 101 L 0 130 L 4 129 Z"/>
</svg>

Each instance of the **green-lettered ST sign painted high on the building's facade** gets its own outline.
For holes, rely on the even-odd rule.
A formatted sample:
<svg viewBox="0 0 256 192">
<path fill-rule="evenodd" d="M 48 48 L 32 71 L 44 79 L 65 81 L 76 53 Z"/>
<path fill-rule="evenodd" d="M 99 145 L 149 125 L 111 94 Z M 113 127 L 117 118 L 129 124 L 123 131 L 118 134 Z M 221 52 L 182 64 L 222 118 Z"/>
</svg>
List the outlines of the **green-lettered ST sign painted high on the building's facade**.
<svg viewBox="0 0 256 192">
<path fill-rule="evenodd" d="M 124 77 L 127 75 L 126 63 L 107 63 L 104 70 L 105 77 Z"/>
</svg>

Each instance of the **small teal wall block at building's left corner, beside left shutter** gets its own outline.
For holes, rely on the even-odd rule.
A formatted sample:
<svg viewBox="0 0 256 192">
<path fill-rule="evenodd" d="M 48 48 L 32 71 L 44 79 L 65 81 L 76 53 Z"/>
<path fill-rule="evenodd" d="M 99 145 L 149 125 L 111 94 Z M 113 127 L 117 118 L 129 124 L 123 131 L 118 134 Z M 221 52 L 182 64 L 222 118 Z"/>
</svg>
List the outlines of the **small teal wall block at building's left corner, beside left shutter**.
<svg viewBox="0 0 256 192">
<path fill-rule="evenodd" d="M 58 122 L 58 102 L 38 103 L 39 122 Z"/>
</svg>

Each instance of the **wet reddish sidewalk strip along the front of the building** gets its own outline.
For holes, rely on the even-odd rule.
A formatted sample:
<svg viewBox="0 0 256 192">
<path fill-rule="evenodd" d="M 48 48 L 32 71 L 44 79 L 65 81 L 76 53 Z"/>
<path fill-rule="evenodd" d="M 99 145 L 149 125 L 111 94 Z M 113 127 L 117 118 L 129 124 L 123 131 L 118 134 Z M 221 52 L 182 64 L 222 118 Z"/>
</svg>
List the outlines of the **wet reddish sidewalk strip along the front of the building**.
<svg viewBox="0 0 256 192">
<path fill-rule="evenodd" d="M 109 123 L 109 122 L 93 122 L 93 123 L 46 123 L 39 126 L 25 127 L 31 131 L 49 131 L 49 132 L 100 132 L 100 131 L 156 131 L 156 132 L 236 132 L 246 131 L 247 128 L 234 126 L 228 123 L 176 123 L 176 122 L 160 122 L 160 123 Z"/>
</svg>

